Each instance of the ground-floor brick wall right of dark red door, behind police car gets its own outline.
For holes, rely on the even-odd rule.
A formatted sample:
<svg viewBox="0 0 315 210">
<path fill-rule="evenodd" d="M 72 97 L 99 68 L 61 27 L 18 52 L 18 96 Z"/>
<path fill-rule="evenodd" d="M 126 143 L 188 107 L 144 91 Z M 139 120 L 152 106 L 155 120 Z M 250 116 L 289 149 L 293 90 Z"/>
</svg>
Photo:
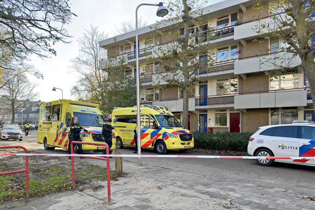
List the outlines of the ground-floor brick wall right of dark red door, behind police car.
<svg viewBox="0 0 315 210">
<path fill-rule="evenodd" d="M 269 109 L 246 109 L 241 119 L 241 132 L 255 132 L 258 127 L 269 125 Z"/>
</svg>

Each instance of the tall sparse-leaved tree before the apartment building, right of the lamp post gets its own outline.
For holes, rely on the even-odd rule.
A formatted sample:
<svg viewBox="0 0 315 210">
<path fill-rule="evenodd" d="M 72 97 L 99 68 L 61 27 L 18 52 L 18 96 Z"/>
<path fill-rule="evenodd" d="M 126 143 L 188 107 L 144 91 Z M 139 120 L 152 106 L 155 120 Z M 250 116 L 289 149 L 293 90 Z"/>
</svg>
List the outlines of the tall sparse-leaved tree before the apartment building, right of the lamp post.
<svg viewBox="0 0 315 210">
<path fill-rule="evenodd" d="M 205 72 L 210 66 L 207 64 L 215 62 L 214 52 L 208 52 L 205 46 L 207 36 L 199 34 L 198 29 L 198 25 L 208 23 L 208 19 L 203 18 L 204 6 L 206 1 L 203 0 L 169 1 L 168 18 L 151 27 L 153 40 L 167 43 L 153 47 L 152 55 L 147 59 L 161 64 L 163 73 L 157 74 L 154 85 L 166 83 L 183 90 L 182 124 L 185 128 L 188 127 L 189 86 L 204 80 L 199 71 Z"/>
</svg>

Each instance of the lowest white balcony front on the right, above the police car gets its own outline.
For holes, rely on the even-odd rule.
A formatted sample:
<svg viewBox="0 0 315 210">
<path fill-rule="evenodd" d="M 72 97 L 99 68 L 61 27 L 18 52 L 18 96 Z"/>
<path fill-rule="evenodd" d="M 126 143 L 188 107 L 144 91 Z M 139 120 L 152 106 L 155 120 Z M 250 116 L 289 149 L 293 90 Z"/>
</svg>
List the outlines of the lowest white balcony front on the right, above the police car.
<svg viewBox="0 0 315 210">
<path fill-rule="evenodd" d="M 242 93 L 234 98 L 234 108 L 272 108 L 306 106 L 305 88 Z"/>
</svg>

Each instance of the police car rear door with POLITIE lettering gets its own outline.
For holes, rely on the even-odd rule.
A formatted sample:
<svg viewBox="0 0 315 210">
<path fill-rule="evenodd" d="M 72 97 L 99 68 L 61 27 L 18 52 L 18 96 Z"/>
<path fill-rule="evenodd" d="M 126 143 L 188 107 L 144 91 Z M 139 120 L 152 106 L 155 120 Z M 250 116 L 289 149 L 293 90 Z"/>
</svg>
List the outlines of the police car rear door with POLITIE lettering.
<svg viewBox="0 0 315 210">
<path fill-rule="evenodd" d="M 268 139 L 268 144 L 274 151 L 275 156 L 279 157 L 298 157 L 299 155 L 299 138 L 298 127 L 294 126 L 277 126 Z M 281 159 L 285 162 L 292 162 L 290 159 Z"/>
</svg>

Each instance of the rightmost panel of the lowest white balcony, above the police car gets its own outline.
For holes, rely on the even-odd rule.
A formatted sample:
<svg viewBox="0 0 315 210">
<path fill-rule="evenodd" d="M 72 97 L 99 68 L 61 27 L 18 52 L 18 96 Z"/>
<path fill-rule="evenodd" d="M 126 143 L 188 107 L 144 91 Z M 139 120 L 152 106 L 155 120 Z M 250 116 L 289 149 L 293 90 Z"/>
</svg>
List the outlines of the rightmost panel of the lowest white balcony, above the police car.
<svg viewBox="0 0 315 210">
<path fill-rule="evenodd" d="M 276 107 L 306 106 L 306 90 L 276 92 Z"/>
</svg>

